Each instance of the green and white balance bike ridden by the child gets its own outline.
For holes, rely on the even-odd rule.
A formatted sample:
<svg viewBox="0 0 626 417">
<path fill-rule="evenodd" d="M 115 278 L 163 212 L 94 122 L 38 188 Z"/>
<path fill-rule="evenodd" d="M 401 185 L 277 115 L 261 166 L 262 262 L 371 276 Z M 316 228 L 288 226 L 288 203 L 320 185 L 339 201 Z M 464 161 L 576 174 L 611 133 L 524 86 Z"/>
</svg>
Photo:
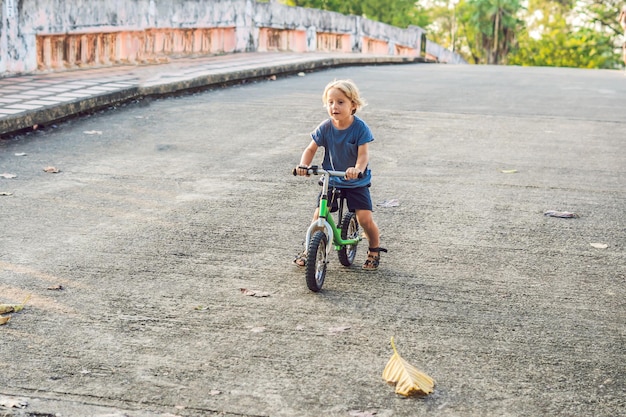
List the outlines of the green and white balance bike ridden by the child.
<svg viewBox="0 0 626 417">
<path fill-rule="evenodd" d="M 330 191 L 333 195 L 329 195 L 330 177 L 345 177 L 346 173 L 344 171 L 327 171 L 316 165 L 309 167 L 307 173 L 308 175 L 322 175 L 320 178 L 322 192 L 320 194 L 319 216 L 309 226 L 305 239 L 305 248 L 307 249 L 306 284 L 311 291 L 319 292 L 324 285 L 331 248 L 334 246 L 338 252 L 339 262 L 343 266 L 351 266 L 356 257 L 357 245 L 362 238 L 359 234 L 356 214 L 350 211 L 344 213 L 346 200 L 341 196 L 341 190 L 333 188 Z M 293 175 L 297 175 L 295 169 Z M 359 174 L 359 178 L 362 176 L 363 174 Z M 331 197 L 331 207 L 329 207 L 329 197 Z M 335 224 L 331 214 L 334 211 L 332 207 L 333 198 L 338 205 L 338 224 Z M 329 245 L 329 242 L 332 243 L 332 246 Z"/>
</svg>

